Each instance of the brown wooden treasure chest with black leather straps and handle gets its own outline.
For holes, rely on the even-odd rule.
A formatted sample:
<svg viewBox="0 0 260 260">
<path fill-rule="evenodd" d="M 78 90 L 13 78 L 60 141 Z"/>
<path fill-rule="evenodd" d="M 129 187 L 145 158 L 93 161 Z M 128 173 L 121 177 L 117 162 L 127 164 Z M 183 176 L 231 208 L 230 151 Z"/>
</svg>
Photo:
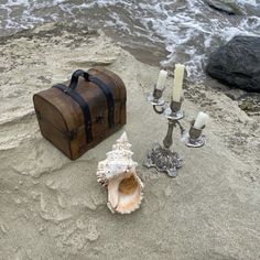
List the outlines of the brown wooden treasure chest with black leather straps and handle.
<svg viewBox="0 0 260 260">
<path fill-rule="evenodd" d="M 121 78 L 98 67 L 78 69 L 71 83 L 57 84 L 33 96 L 42 136 L 71 160 L 126 124 L 126 101 Z"/>
</svg>

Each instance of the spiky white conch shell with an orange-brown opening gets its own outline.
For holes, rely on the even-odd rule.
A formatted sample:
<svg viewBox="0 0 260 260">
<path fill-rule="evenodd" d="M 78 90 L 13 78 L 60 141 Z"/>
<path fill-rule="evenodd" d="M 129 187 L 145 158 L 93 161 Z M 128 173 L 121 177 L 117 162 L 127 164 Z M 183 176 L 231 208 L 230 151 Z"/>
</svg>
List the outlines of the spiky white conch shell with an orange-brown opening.
<svg viewBox="0 0 260 260">
<path fill-rule="evenodd" d="M 143 184 L 137 175 L 137 162 L 132 160 L 127 133 L 117 140 L 107 159 L 98 163 L 97 181 L 108 188 L 108 208 L 129 214 L 140 207 Z"/>
</svg>

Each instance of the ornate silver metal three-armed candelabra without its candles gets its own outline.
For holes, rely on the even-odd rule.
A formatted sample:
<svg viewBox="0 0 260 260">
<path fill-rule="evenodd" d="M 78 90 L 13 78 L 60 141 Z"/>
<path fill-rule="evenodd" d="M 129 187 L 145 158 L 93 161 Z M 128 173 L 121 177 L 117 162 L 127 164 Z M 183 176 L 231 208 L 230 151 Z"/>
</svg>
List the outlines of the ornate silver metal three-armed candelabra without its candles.
<svg viewBox="0 0 260 260">
<path fill-rule="evenodd" d="M 201 148 L 205 144 L 205 136 L 202 134 L 203 129 L 196 129 L 194 127 L 195 120 L 191 122 L 189 131 L 186 132 L 181 124 L 181 120 L 184 118 L 184 112 L 181 110 L 182 100 L 172 100 L 170 105 L 166 105 L 162 95 L 163 89 L 156 89 L 149 94 L 148 101 L 153 106 L 153 109 L 159 115 L 164 115 L 167 118 L 167 133 L 163 139 L 163 145 L 155 144 L 151 151 L 149 151 L 144 165 L 148 167 L 155 167 L 159 172 L 166 172 L 170 177 L 177 175 L 177 169 L 183 165 L 183 158 L 178 153 L 171 150 L 173 144 L 173 129 L 177 126 L 181 130 L 181 138 L 188 148 Z"/>
</svg>

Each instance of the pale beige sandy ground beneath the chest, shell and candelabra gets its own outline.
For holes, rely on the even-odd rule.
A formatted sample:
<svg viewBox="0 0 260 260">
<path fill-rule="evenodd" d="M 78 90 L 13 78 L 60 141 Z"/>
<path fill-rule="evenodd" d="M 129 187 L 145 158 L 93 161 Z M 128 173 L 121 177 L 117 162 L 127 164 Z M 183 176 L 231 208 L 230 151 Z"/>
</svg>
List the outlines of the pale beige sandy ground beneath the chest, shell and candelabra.
<svg viewBox="0 0 260 260">
<path fill-rule="evenodd" d="M 159 67 L 101 32 L 76 31 L 48 24 L 1 40 L 0 259 L 259 259 L 259 119 L 220 91 L 186 84 L 184 126 L 207 111 L 207 144 L 188 149 L 175 129 L 173 148 L 185 155 L 178 176 L 148 170 L 147 151 L 166 132 L 145 101 Z M 126 83 L 128 123 L 72 162 L 41 137 L 32 95 L 95 65 Z M 112 215 L 95 172 L 123 130 L 144 201 L 131 215 Z"/>
</svg>

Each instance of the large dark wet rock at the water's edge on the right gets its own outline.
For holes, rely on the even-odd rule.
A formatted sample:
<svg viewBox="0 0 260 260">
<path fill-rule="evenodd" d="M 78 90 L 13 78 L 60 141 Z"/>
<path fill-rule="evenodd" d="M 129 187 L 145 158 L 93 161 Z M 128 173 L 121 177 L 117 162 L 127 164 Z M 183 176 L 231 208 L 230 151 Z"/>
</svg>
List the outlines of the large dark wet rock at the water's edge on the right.
<svg viewBox="0 0 260 260">
<path fill-rule="evenodd" d="M 260 37 L 235 36 L 210 54 L 206 72 L 230 87 L 260 93 Z"/>
</svg>

